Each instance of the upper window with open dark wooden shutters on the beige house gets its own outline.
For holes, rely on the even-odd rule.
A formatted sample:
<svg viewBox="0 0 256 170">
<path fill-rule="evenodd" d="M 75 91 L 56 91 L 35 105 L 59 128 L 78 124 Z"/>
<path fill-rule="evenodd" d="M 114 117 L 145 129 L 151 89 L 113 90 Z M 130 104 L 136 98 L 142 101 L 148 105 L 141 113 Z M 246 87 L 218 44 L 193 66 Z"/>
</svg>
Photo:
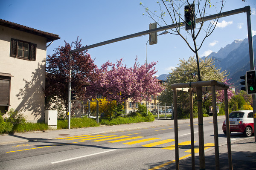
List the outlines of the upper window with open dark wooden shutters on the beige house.
<svg viewBox="0 0 256 170">
<path fill-rule="evenodd" d="M 36 60 L 36 44 L 22 40 L 11 39 L 11 57 L 25 59 L 29 61 Z"/>
</svg>

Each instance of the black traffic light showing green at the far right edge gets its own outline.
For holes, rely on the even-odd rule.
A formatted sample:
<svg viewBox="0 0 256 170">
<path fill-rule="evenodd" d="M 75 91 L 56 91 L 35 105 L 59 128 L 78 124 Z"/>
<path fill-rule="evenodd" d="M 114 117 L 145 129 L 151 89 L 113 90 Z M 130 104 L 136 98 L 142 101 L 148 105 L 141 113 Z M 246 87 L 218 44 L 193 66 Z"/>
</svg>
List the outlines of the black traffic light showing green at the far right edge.
<svg viewBox="0 0 256 170">
<path fill-rule="evenodd" d="M 246 72 L 246 86 L 249 95 L 256 94 L 256 70 Z"/>
</svg>

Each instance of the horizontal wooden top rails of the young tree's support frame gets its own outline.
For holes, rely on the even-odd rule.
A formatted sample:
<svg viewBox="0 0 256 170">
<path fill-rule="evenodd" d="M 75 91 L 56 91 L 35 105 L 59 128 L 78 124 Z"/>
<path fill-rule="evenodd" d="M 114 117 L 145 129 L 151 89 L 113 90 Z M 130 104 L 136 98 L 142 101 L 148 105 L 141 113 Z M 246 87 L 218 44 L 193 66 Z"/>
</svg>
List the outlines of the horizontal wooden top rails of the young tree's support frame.
<svg viewBox="0 0 256 170">
<path fill-rule="evenodd" d="M 172 89 L 177 88 L 194 88 L 199 86 L 218 86 L 220 89 L 228 89 L 229 86 L 227 84 L 221 83 L 219 81 L 211 80 L 211 81 L 196 81 L 189 83 L 180 83 L 180 84 L 172 84 Z"/>
</svg>

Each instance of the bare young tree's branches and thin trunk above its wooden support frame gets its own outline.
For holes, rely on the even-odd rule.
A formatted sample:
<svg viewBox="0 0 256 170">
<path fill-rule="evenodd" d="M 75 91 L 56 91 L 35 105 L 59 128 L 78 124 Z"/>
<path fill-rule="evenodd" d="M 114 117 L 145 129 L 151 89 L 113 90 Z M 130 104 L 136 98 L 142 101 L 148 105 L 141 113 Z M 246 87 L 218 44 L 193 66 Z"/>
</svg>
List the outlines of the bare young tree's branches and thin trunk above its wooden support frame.
<svg viewBox="0 0 256 170">
<path fill-rule="evenodd" d="M 161 0 L 157 4 L 160 12 L 151 11 L 143 3 L 140 3 L 145 8 L 145 15 L 151 17 L 158 26 L 169 26 L 170 22 L 174 25 L 174 28 L 169 27 L 165 31 L 179 35 L 195 53 L 198 68 L 197 81 L 201 81 L 198 50 L 201 49 L 204 40 L 215 29 L 225 0 L 217 0 L 216 5 L 212 3 L 212 0 Z M 214 12 L 217 15 L 214 20 L 207 24 L 204 18 L 206 15 L 210 15 L 209 12 Z M 191 19 L 188 21 L 185 19 L 185 15 L 189 14 Z M 185 26 L 191 29 L 185 29 Z"/>
</svg>

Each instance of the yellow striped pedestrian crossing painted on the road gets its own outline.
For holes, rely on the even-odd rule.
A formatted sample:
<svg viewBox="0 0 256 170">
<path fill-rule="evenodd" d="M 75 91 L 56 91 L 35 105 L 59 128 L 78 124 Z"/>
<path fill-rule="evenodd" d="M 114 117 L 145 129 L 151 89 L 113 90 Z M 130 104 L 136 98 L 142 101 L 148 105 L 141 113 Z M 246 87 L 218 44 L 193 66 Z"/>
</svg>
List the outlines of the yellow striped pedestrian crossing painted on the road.
<svg viewBox="0 0 256 170">
<path fill-rule="evenodd" d="M 147 138 L 145 136 L 132 137 L 131 135 L 134 135 L 134 134 L 121 135 L 121 136 L 118 136 L 118 135 L 79 135 L 79 136 L 56 138 L 56 139 L 93 141 L 93 142 L 104 141 L 106 143 L 124 142 L 122 144 L 128 144 L 128 145 L 142 144 L 141 147 L 159 147 L 164 150 L 175 150 L 175 144 L 173 144 L 175 141 L 174 139 L 161 140 L 161 138 Z M 151 143 L 148 143 L 148 142 L 151 142 Z M 197 141 L 195 141 L 195 143 L 196 142 Z M 165 144 L 168 146 L 163 146 Z M 169 145 L 169 144 L 172 144 L 172 145 Z M 185 146 L 190 146 L 191 141 L 183 141 L 183 142 L 180 142 L 178 145 L 179 145 L 178 147 L 182 149 Z M 212 144 L 212 143 L 204 144 L 204 150 L 209 149 L 211 147 L 214 147 L 214 144 Z M 187 148 L 187 147 L 185 147 L 185 148 Z M 195 151 L 195 153 L 199 153 L 199 147 L 195 147 L 194 151 Z M 191 153 L 192 150 L 189 149 L 189 150 L 186 150 L 185 152 Z"/>
</svg>

